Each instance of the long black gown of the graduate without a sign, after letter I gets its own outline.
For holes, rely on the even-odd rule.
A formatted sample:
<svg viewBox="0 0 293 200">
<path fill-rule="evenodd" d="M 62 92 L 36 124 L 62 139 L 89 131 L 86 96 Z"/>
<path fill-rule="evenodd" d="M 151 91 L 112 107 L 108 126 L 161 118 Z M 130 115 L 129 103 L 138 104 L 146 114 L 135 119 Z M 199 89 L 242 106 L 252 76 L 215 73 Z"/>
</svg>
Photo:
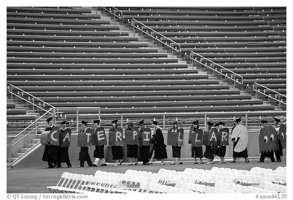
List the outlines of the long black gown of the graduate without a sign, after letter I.
<svg viewBox="0 0 293 200">
<path fill-rule="evenodd" d="M 152 138 L 152 140 L 154 141 L 154 143 L 153 143 L 153 149 L 151 151 L 151 154 L 153 154 L 153 151 L 155 150 L 154 158 L 156 159 L 167 158 L 167 151 L 166 151 L 167 146 L 164 144 L 164 136 L 160 128 L 157 128 L 156 134 L 154 138 Z"/>
</svg>

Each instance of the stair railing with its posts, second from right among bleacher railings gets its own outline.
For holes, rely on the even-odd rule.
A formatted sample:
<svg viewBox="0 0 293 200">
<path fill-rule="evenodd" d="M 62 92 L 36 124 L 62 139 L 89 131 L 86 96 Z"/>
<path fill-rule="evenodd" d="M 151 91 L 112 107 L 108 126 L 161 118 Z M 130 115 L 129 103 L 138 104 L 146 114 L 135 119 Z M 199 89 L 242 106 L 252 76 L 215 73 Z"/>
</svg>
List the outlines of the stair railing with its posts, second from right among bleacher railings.
<svg viewBox="0 0 293 200">
<path fill-rule="evenodd" d="M 197 57 L 199 57 L 200 61 L 197 60 Z M 226 78 L 232 80 L 233 83 L 234 83 L 235 88 L 236 88 L 236 83 L 243 84 L 243 76 L 241 76 L 241 75 L 239 75 L 239 74 L 237 74 L 237 73 L 235 73 L 235 72 L 233 72 L 233 71 L 231 71 L 231 70 L 229 70 L 229 69 L 227 69 L 227 68 L 225 68 L 225 67 L 223 67 L 223 66 L 221 66 L 221 65 L 219 65 L 219 64 L 217 64 L 217 63 L 215 63 L 215 62 L 213 62 L 213 61 L 211 61 L 209 59 L 207 59 L 207 58 L 204 58 L 202 55 L 200 55 L 200 54 L 198 54 L 198 53 L 196 53 L 194 51 L 190 52 L 190 59 L 192 60 L 192 66 L 194 65 L 193 61 L 195 61 L 195 62 L 199 63 L 200 65 L 203 65 L 204 67 L 207 67 L 207 68 L 211 69 L 213 71 L 213 75 L 214 75 L 214 72 L 217 72 L 218 74 L 221 74 L 221 75 L 225 76 Z M 206 64 L 204 64 L 202 62 L 203 60 L 210 62 L 211 66 L 208 66 L 207 62 L 206 62 Z M 230 72 L 231 77 L 227 73 L 223 74 L 222 72 L 218 71 L 217 67 L 215 68 L 215 65 L 217 67 L 221 68 L 221 69 L 225 69 L 228 72 Z"/>
</svg>

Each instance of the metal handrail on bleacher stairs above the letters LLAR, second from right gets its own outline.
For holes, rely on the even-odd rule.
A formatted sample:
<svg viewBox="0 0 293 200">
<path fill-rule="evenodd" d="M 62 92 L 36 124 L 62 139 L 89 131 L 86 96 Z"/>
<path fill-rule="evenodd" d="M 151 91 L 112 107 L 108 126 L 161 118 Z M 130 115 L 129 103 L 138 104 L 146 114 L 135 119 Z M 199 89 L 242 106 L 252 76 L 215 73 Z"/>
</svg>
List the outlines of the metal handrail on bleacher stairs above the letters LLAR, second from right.
<svg viewBox="0 0 293 200">
<path fill-rule="evenodd" d="M 203 64 L 203 63 L 201 62 L 201 59 L 200 59 L 200 62 L 197 61 L 196 59 L 193 58 L 193 55 L 194 55 L 194 54 L 200 56 L 201 59 L 205 59 L 205 60 L 211 62 L 212 64 L 217 65 L 217 66 L 219 66 L 220 68 L 223 68 L 223 69 L 225 69 L 225 70 L 231 72 L 231 73 L 232 73 L 232 74 L 231 74 L 231 77 L 228 76 L 227 74 L 223 74 L 222 72 L 220 72 L 220 71 L 214 69 L 214 65 L 211 65 L 211 66 L 213 66 L 213 67 L 210 67 L 210 66 L 208 66 L 208 65 Z M 235 73 L 235 72 L 233 72 L 233 71 L 231 71 L 231 70 L 229 70 L 229 69 L 227 69 L 227 68 L 225 68 L 225 67 L 223 67 L 223 66 L 221 66 L 221 65 L 219 65 L 219 64 L 217 64 L 217 63 L 215 63 L 215 62 L 213 62 L 213 61 L 211 61 L 211 60 L 209 60 L 209 59 L 207 59 L 207 58 L 204 58 L 202 55 L 200 55 L 200 54 L 198 54 L 198 53 L 196 53 L 196 52 L 194 52 L 194 51 L 190 51 L 190 59 L 192 60 L 192 62 L 193 62 L 193 61 L 196 61 L 197 63 L 200 63 L 201 65 L 204 65 L 204 66 L 210 68 L 211 70 L 213 70 L 213 72 L 215 71 L 215 72 L 217 72 L 217 73 L 219 73 L 219 74 L 222 74 L 223 76 L 225 76 L 225 77 L 227 77 L 227 78 L 233 80 L 233 81 L 234 81 L 234 86 L 235 86 L 235 83 L 236 83 L 236 82 L 239 83 L 239 84 L 243 84 L 243 76 L 241 76 L 241 75 L 239 75 L 239 74 L 237 74 L 237 73 Z M 193 65 L 193 64 L 192 64 L 192 65 Z M 233 78 L 232 75 L 234 75 L 234 78 Z M 238 78 L 235 78 L 235 75 L 236 75 L 236 76 L 239 76 L 239 78 L 241 79 L 241 82 L 238 81 Z"/>
</svg>

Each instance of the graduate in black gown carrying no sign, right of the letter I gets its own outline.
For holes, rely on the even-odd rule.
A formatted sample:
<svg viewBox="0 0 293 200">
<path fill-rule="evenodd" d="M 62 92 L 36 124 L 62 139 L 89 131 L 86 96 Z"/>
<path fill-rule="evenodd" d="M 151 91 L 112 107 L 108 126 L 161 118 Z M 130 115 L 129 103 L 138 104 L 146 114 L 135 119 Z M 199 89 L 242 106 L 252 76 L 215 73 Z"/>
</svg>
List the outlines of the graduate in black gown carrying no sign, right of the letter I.
<svg viewBox="0 0 293 200">
<path fill-rule="evenodd" d="M 154 158 L 161 159 L 161 165 L 164 165 L 164 158 L 167 158 L 167 151 L 166 151 L 166 145 L 164 143 L 164 136 L 162 133 L 162 129 L 158 126 L 158 122 L 153 121 L 153 128 L 154 128 L 154 134 L 152 139 L 150 139 L 150 142 L 153 142 L 153 148 L 151 150 L 151 160 L 149 164 L 153 164 Z"/>
</svg>

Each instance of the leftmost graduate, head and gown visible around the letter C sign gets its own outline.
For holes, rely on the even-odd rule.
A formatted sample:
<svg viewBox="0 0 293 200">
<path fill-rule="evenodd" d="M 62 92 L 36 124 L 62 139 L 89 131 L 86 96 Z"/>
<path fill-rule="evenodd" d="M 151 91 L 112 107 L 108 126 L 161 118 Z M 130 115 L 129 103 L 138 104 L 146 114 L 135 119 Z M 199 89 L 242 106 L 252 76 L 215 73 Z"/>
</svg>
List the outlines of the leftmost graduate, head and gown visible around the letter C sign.
<svg viewBox="0 0 293 200">
<path fill-rule="evenodd" d="M 45 131 L 51 131 L 52 128 L 54 127 L 53 125 L 53 118 L 49 117 L 47 120 L 48 127 L 45 128 Z M 48 162 L 48 167 L 47 168 L 53 168 L 57 165 L 57 152 L 55 153 L 55 146 L 51 146 L 48 142 L 48 145 L 45 145 L 44 153 L 43 153 L 43 161 Z M 53 154 L 53 155 L 51 155 Z"/>
</svg>

